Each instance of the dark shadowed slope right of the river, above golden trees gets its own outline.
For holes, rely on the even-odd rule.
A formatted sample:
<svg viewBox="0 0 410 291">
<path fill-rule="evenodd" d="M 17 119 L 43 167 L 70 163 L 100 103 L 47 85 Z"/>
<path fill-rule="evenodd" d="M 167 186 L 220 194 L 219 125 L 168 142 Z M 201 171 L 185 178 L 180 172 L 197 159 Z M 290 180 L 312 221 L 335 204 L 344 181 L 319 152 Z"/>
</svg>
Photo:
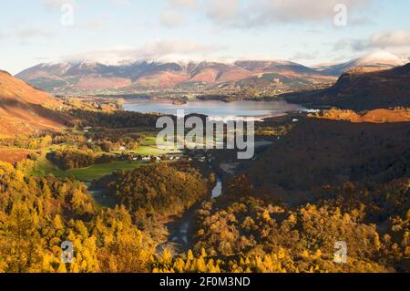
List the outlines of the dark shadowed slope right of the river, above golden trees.
<svg viewBox="0 0 410 291">
<path fill-rule="evenodd" d="M 277 198 L 294 203 L 300 199 L 295 193 L 322 185 L 348 181 L 373 185 L 408 177 L 409 143 L 408 122 L 302 119 L 241 172 L 261 192 L 273 191 Z"/>
</svg>

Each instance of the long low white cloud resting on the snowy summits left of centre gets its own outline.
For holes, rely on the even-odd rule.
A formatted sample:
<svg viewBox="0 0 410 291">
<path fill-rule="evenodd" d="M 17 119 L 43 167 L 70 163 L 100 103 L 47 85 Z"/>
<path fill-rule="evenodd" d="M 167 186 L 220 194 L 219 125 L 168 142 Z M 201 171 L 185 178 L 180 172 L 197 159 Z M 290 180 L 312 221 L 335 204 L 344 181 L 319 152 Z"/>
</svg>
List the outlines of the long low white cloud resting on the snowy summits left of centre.
<svg viewBox="0 0 410 291">
<path fill-rule="evenodd" d="M 64 61 L 99 62 L 107 65 L 132 63 L 146 59 L 165 59 L 167 57 L 202 57 L 220 50 L 220 47 L 203 45 L 192 40 L 158 40 L 142 47 L 107 47 L 62 57 Z"/>
</svg>

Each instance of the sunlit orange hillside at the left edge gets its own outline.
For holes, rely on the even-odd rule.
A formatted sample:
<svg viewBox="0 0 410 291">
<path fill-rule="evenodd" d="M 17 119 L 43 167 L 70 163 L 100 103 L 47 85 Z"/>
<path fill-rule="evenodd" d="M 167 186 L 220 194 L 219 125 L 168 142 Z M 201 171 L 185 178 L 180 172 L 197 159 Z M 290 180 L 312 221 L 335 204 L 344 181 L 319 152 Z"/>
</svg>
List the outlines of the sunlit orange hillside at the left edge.
<svg viewBox="0 0 410 291">
<path fill-rule="evenodd" d="M 60 130 L 68 120 L 54 110 L 59 106 L 48 93 L 0 70 L 0 135 Z"/>
</svg>

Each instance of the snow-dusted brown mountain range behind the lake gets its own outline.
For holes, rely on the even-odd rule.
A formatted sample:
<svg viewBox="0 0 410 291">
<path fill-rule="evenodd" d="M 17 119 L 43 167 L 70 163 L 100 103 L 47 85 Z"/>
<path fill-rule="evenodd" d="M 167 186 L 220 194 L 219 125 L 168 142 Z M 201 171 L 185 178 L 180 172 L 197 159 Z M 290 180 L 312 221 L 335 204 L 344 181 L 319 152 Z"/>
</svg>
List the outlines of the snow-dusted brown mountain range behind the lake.
<svg viewBox="0 0 410 291">
<path fill-rule="evenodd" d="M 380 69 L 404 64 L 393 55 L 372 55 L 343 64 L 314 68 L 285 60 L 142 60 L 117 66 L 96 62 L 63 62 L 27 68 L 16 77 L 54 94 L 127 94 L 155 89 L 204 91 L 247 88 L 271 89 L 281 93 L 323 87 L 323 84 L 335 82 L 344 70 L 357 66 Z"/>
</svg>

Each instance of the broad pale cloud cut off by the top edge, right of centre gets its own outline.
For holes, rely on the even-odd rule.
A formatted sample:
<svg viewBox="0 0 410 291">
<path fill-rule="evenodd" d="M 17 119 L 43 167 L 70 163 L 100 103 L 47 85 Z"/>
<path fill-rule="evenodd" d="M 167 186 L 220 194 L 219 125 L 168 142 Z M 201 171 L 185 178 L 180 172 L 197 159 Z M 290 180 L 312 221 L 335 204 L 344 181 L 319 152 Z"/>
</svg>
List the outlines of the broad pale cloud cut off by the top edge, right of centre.
<svg viewBox="0 0 410 291">
<path fill-rule="evenodd" d="M 347 6 L 348 25 L 362 26 L 371 23 L 367 8 L 374 0 L 167 0 L 164 13 L 186 12 L 187 9 L 206 16 L 219 26 L 251 28 L 286 23 L 320 23 L 333 24 L 338 11 L 336 5 Z M 164 13 L 161 23 L 164 21 Z M 167 16 L 170 18 L 171 15 Z"/>
</svg>

